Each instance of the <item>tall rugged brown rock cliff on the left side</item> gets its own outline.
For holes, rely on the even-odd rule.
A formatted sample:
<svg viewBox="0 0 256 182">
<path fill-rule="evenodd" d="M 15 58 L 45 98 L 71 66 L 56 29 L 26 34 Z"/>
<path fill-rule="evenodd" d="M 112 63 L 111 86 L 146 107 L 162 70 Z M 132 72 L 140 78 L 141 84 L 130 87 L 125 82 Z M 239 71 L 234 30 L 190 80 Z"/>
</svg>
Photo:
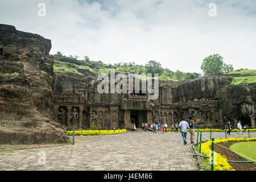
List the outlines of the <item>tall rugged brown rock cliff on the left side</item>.
<svg viewBox="0 0 256 182">
<path fill-rule="evenodd" d="M 0 24 L 0 144 L 64 143 L 53 120 L 51 40 Z"/>
</svg>

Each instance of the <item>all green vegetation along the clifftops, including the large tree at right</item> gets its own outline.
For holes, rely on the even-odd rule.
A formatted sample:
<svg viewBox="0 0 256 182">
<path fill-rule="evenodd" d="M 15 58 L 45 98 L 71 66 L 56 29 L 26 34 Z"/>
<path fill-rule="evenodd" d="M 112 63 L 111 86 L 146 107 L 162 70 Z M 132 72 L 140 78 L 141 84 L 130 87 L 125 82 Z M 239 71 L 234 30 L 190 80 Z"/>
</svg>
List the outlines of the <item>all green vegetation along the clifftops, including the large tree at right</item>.
<svg viewBox="0 0 256 182">
<path fill-rule="evenodd" d="M 187 79 L 194 79 L 201 76 L 200 73 L 188 73 L 181 72 L 177 70 L 176 72 L 171 71 L 168 68 L 163 68 L 162 65 L 157 61 L 148 61 L 145 65 L 138 65 L 135 63 L 115 63 L 115 64 L 105 64 L 102 61 L 92 61 L 88 56 L 84 57 L 84 60 L 77 60 L 77 56 L 64 56 L 59 51 L 56 55 L 56 60 L 54 61 L 54 72 L 60 73 L 76 73 L 78 75 L 90 75 L 97 76 L 98 73 L 105 73 L 109 75 L 110 69 L 114 69 L 115 73 L 158 73 L 160 81 L 182 81 Z M 256 75 L 255 69 L 237 69 L 233 71 L 232 65 L 226 65 L 223 58 L 219 55 L 208 56 L 202 65 L 207 65 L 204 67 L 205 73 L 218 73 L 225 72 L 224 74 L 241 74 L 241 75 Z M 220 64 L 216 64 L 220 62 Z M 216 67 L 212 67 L 216 65 Z M 208 70 L 212 69 L 211 71 Z M 208 71 L 208 72 L 207 72 Z M 207 75 L 207 74 L 206 74 Z M 154 75 L 152 75 L 154 76 Z M 224 76 L 223 76 L 224 77 Z M 232 84 L 250 84 L 255 82 L 255 76 L 246 76 L 246 77 L 234 77 Z"/>
</svg>

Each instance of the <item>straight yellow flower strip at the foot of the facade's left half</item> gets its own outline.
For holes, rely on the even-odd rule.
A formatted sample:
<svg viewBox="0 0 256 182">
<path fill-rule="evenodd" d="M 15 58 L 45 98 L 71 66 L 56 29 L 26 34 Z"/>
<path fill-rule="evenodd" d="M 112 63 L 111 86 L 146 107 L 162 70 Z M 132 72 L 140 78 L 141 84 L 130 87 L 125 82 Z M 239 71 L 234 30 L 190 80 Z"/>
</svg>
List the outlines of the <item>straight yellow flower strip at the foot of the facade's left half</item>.
<svg viewBox="0 0 256 182">
<path fill-rule="evenodd" d="M 118 133 L 126 133 L 126 129 L 121 130 L 82 130 L 82 135 L 108 135 L 109 134 L 118 134 Z M 68 135 L 73 135 L 73 131 L 67 131 Z M 81 130 L 75 130 L 75 135 L 81 135 Z"/>
</svg>

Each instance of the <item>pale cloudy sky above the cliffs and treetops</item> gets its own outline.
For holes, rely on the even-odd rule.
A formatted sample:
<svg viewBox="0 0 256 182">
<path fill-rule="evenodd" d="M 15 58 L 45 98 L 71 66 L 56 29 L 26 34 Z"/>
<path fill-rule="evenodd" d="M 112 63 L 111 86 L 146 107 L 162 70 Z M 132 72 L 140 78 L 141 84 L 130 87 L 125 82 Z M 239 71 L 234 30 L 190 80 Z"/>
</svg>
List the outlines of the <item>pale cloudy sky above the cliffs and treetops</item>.
<svg viewBox="0 0 256 182">
<path fill-rule="evenodd" d="M 0 23 L 51 39 L 52 54 L 112 64 L 155 60 L 201 73 L 203 59 L 219 53 L 235 69 L 256 69 L 254 0 L 1 0 Z"/>
</svg>

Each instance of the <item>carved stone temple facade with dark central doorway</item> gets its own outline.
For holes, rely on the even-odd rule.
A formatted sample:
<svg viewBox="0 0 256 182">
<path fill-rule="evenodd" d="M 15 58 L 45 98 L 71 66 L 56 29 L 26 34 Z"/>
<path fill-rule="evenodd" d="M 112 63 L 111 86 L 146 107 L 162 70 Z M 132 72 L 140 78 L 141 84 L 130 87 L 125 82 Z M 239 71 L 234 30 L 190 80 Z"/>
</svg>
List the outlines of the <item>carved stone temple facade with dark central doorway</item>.
<svg viewBox="0 0 256 182">
<path fill-rule="evenodd" d="M 159 88 L 164 94 L 158 100 L 148 100 L 148 94 L 99 94 L 96 81 L 86 88 L 83 92 L 65 89 L 65 93 L 53 95 L 56 118 L 61 125 L 69 129 L 89 129 L 92 125 L 98 129 L 131 129 L 134 125 L 141 127 L 144 122 L 174 122 L 174 105 L 168 86 Z"/>
</svg>

